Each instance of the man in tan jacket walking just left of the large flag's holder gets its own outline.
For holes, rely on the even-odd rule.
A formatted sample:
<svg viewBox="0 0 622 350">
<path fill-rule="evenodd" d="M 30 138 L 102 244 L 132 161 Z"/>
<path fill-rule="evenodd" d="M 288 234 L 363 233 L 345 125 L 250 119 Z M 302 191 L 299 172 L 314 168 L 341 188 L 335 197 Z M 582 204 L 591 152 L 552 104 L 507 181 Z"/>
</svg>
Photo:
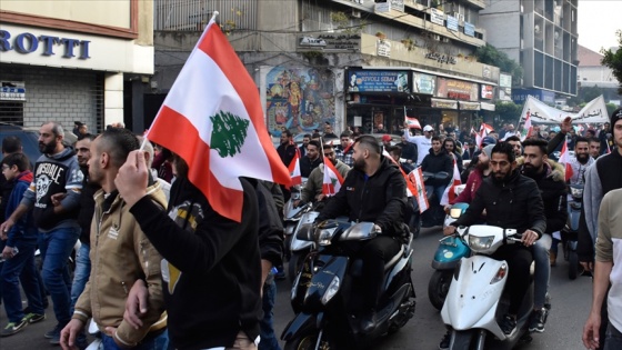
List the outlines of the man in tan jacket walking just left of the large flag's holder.
<svg viewBox="0 0 622 350">
<path fill-rule="evenodd" d="M 90 318 L 101 331 L 104 349 L 167 349 L 167 314 L 162 279 L 158 267 L 162 257 L 146 237 L 114 179 L 128 154 L 140 147 L 128 129 L 106 130 L 90 147 L 89 181 L 101 189 L 94 194 L 90 237 L 93 259 L 91 276 L 78 298 L 72 320 L 61 331 L 63 349 L 73 349 L 77 337 Z M 159 209 L 167 207 L 164 192 L 149 178 L 147 198 Z M 149 290 L 150 310 L 142 327 L 123 321 L 128 291 L 137 280 Z"/>
</svg>

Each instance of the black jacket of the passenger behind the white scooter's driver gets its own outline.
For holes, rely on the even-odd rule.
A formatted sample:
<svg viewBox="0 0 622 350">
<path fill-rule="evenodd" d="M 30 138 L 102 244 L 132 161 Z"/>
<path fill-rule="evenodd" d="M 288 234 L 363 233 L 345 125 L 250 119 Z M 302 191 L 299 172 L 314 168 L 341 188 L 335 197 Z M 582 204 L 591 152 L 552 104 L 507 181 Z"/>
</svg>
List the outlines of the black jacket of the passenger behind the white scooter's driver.
<svg viewBox="0 0 622 350">
<path fill-rule="evenodd" d="M 566 187 L 563 180 L 556 181 L 551 177 L 551 167 L 544 163 L 544 171 L 536 174 L 524 173 L 524 167 L 521 172 L 538 183 L 540 196 L 544 204 L 544 214 L 546 216 L 546 233 L 560 231 L 565 227 L 568 220 L 568 196 Z"/>
</svg>

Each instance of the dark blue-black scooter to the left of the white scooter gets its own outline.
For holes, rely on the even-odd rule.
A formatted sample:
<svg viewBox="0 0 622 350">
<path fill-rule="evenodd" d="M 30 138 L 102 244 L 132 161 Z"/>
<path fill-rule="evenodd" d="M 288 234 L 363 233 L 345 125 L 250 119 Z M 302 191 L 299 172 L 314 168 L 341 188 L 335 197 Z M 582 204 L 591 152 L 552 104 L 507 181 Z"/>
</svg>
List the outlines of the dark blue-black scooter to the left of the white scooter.
<svg viewBox="0 0 622 350">
<path fill-rule="evenodd" d="M 362 261 L 349 257 L 342 244 L 374 238 L 372 222 L 352 224 L 347 220 L 327 220 L 304 224 L 297 238 L 313 241 L 314 249 L 295 278 L 291 304 L 297 313 L 283 331 L 285 350 L 362 349 L 385 333 L 393 333 L 414 316 L 412 271 L 412 237 L 384 266 L 375 329 L 363 333 L 360 329 L 363 276 Z"/>
</svg>

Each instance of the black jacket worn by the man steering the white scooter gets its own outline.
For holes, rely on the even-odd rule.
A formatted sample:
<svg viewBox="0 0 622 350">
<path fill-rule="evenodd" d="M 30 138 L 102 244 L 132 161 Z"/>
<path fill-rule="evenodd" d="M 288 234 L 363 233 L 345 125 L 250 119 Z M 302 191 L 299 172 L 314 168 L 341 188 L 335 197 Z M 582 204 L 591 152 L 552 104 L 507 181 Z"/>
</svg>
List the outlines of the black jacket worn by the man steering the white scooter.
<svg viewBox="0 0 622 350">
<path fill-rule="evenodd" d="M 479 222 L 486 210 L 486 223 L 520 233 L 531 229 L 540 237 L 546 232 L 546 218 L 540 190 L 535 181 L 514 170 L 509 179 L 496 180 L 491 176 L 482 182 L 466 211 L 452 226 L 471 226 Z"/>
</svg>

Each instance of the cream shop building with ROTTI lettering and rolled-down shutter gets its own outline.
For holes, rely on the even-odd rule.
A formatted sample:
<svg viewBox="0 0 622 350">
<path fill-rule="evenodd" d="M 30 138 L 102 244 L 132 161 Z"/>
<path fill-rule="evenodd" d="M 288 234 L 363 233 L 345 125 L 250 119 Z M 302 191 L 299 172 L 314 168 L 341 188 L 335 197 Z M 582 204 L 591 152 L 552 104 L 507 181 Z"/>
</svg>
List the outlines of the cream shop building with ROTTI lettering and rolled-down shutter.
<svg viewBox="0 0 622 350">
<path fill-rule="evenodd" d="M 142 131 L 153 52 L 152 1 L 0 1 L 0 121 Z"/>
</svg>

